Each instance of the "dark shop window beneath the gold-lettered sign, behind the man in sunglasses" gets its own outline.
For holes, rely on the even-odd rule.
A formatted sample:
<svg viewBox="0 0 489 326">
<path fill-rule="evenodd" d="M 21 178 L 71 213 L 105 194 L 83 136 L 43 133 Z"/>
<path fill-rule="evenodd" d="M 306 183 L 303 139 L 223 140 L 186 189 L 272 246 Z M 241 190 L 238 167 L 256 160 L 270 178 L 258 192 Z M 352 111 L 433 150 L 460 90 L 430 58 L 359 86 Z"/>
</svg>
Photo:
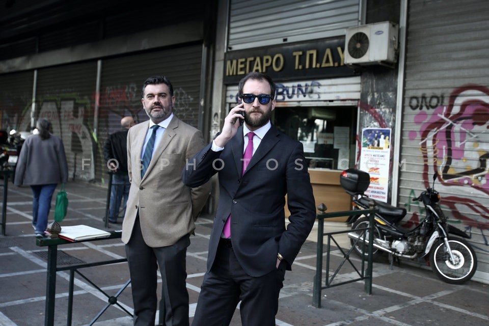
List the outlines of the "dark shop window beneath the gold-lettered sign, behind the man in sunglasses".
<svg viewBox="0 0 489 326">
<path fill-rule="evenodd" d="M 276 107 L 273 123 L 303 143 L 310 169 L 355 165 L 356 107 Z"/>
</svg>

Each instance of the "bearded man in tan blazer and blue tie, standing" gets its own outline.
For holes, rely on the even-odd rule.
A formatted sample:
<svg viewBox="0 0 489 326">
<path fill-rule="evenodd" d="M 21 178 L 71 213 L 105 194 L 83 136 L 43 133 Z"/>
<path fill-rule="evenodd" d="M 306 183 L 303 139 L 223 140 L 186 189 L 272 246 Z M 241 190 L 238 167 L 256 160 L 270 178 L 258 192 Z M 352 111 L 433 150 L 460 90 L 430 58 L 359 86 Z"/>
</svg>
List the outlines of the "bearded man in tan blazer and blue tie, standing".
<svg viewBox="0 0 489 326">
<path fill-rule="evenodd" d="M 201 131 L 174 116 L 173 86 L 166 77 L 146 79 L 142 102 L 150 120 L 131 127 L 127 134 L 131 187 L 122 224 L 134 325 L 154 325 L 158 265 L 165 302 L 165 320 L 159 322 L 188 325 L 186 249 L 210 183 L 187 187 L 181 172 L 186 160 L 204 147 L 204 140 Z"/>
</svg>

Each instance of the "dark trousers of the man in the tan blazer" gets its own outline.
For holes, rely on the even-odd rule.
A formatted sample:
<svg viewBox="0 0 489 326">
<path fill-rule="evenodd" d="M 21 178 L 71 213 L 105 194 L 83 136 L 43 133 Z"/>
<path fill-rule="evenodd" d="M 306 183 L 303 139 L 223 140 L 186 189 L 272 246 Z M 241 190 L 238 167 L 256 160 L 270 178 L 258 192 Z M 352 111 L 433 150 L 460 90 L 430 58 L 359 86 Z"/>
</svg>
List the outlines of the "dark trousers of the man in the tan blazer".
<svg viewBox="0 0 489 326">
<path fill-rule="evenodd" d="M 138 216 L 131 239 L 125 246 L 131 276 L 134 326 L 154 325 L 158 265 L 165 301 L 165 320 L 159 322 L 166 326 L 188 325 L 185 257 L 189 244 L 190 238 L 187 234 L 172 246 L 159 248 L 147 246 L 141 233 Z"/>
</svg>

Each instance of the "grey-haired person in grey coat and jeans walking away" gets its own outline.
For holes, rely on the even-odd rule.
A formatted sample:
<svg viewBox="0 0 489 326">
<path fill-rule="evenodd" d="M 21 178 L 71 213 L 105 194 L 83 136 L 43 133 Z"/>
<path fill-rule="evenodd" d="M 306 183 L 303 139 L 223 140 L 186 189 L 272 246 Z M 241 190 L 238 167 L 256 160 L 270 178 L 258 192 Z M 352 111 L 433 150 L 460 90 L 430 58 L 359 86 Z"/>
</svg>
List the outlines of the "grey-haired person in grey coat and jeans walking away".
<svg viewBox="0 0 489 326">
<path fill-rule="evenodd" d="M 49 132 L 51 122 L 41 118 L 36 127 L 39 133 L 22 145 L 14 184 L 31 186 L 32 226 L 36 237 L 45 237 L 52 194 L 59 182 L 68 181 L 68 163 L 63 141 Z"/>
</svg>

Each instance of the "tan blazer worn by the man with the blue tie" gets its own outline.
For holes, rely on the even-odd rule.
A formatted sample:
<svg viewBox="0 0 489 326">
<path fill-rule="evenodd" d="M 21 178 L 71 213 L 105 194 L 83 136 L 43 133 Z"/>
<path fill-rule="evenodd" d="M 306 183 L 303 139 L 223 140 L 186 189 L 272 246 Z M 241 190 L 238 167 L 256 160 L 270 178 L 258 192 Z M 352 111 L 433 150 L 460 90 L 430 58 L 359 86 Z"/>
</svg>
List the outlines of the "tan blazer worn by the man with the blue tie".
<svg viewBox="0 0 489 326">
<path fill-rule="evenodd" d="M 127 168 L 131 187 L 122 224 L 122 241 L 130 239 L 139 210 L 141 231 L 150 247 L 171 246 L 194 232 L 194 219 L 210 194 L 210 182 L 197 188 L 182 183 L 182 170 L 204 146 L 202 132 L 179 120 L 170 121 L 141 179 L 141 152 L 149 120 L 127 133 Z"/>
</svg>

